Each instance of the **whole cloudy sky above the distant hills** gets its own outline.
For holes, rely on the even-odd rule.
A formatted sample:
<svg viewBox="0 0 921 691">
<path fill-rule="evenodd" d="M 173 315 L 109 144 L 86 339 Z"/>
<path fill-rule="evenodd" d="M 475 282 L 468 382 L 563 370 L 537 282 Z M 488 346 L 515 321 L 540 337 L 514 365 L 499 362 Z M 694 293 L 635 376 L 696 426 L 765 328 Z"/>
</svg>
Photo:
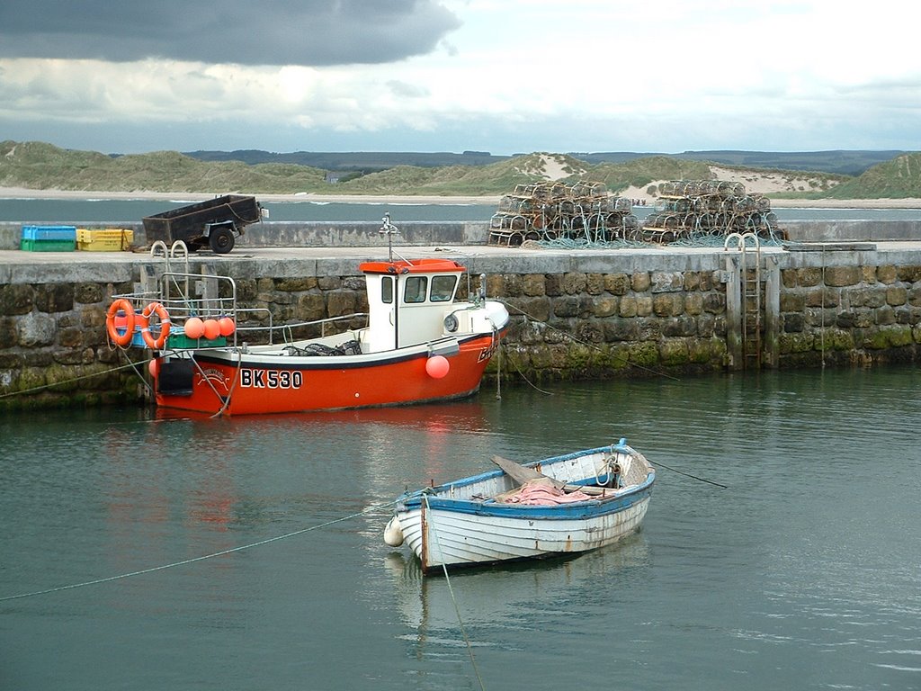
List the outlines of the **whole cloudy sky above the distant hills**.
<svg viewBox="0 0 921 691">
<path fill-rule="evenodd" d="M 0 140 L 107 153 L 921 149 L 876 0 L 3 0 Z"/>
</svg>

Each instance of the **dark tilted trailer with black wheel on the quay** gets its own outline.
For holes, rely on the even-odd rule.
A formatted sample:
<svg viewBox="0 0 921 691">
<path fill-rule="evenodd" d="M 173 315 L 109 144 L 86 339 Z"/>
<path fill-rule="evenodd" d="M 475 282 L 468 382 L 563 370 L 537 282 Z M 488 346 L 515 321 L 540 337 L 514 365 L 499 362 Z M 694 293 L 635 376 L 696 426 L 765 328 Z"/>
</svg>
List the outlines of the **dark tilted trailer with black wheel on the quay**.
<svg viewBox="0 0 921 691">
<path fill-rule="evenodd" d="M 210 247 L 217 254 L 233 249 L 243 228 L 262 220 L 265 210 L 255 197 L 225 194 L 188 206 L 144 218 L 147 242 L 162 240 L 168 245 L 182 240 L 190 252 Z"/>
</svg>

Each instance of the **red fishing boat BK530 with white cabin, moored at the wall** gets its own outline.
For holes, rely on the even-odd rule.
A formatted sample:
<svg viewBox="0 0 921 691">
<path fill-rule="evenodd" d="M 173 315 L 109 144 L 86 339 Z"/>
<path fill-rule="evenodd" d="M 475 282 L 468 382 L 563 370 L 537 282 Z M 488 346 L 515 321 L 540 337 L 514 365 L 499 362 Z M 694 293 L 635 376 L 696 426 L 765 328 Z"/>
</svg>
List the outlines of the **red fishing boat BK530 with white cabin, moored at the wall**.
<svg viewBox="0 0 921 691">
<path fill-rule="evenodd" d="M 382 232 L 395 229 L 385 218 Z M 209 414 L 340 410 L 459 399 L 477 392 L 507 329 L 508 311 L 485 298 L 457 301 L 466 269 L 451 259 L 394 258 L 359 265 L 367 315 L 248 326 L 229 276 L 207 276 L 219 298 L 183 286 L 201 275 L 164 272 L 159 290 L 115 296 L 106 328 L 115 345 L 152 351 L 157 405 Z M 170 295 L 170 290 L 179 295 Z M 262 310 L 267 314 L 267 310 Z M 295 338 L 361 318 L 367 325 Z M 258 338 L 262 345 L 251 345 Z"/>
</svg>

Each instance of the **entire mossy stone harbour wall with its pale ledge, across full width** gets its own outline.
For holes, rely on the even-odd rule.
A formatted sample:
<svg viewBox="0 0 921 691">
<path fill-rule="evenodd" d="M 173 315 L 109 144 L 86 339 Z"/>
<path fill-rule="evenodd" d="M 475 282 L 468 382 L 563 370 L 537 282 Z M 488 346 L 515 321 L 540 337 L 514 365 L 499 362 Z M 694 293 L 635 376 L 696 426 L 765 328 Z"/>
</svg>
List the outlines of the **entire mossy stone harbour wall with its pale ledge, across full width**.
<svg viewBox="0 0 921 691">
<path fill-rule="evenodd" d="M 157 263 L 126 253 L 94 262 L 15 254 L 17 263 L 0 264 L 0 410 L 143 402 L 146 351 L 110 345 L 105 316 L 111 297 L 145 285 Z M 765 248 L 757 262 L 753 252 L 712 248 L 455 258 L 468 267 L 471 290 L 485 275 L 487 294 L 512 314 L 501 357 L 487 370 L 495 378 L 501 367 L 504 382 L 921 357 L 921 244 Z M 192 272 L 231 275 L 240 306 L 267 308 L 277 324 L 367 310 L 357 264 L 344 256 L 211 257 L 195 259 Z M 753 315 L 745 291 L 754 285 L 758 321 L 746 326 Z"/>
</svg>

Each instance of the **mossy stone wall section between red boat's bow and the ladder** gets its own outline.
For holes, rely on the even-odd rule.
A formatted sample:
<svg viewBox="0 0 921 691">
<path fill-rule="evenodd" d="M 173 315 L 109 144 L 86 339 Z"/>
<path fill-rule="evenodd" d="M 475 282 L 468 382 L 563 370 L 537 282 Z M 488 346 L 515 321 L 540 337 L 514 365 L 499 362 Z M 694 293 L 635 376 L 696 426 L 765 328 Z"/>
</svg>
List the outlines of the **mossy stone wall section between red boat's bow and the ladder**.
<svg viewBox="0 0 921 691">
<path fill-rule="evenodd" d="M 723 369 L 726 288 L 714 271 L 496 275 L 514 315 L 503 369 L 537 381 Z"/>
</svg>

